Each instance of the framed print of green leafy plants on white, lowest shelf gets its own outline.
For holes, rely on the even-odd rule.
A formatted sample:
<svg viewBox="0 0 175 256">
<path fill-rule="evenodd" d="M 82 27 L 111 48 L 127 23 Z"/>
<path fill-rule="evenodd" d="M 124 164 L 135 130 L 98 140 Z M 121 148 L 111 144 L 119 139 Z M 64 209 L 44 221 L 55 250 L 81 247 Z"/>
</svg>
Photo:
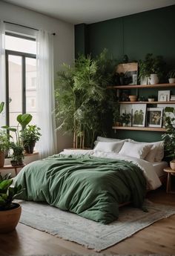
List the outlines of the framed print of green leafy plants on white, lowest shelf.
<svg viewBox="0 0 175 256">
<path fill-rule="evenodd" d="M 132 105 L 132 126 L 145 127 L 146 104 Z"/>
</svg>

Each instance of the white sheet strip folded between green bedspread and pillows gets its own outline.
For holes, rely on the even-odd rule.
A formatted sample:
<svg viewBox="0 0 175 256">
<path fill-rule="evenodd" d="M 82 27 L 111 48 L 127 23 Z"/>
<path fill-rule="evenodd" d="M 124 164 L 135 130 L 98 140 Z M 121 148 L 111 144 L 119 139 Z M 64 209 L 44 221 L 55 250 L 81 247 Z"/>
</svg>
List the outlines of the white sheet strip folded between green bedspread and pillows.
<svg viewBox="0 0 175 256">
<path fill-rule="evenodd" d="M 156 171 L 154 170 L 153 163 L 149 163 L 148 161 L 136 158 L 136 157 L 128 157 L 122 154 L 116 154 L 111 152 L 102 152 L 102 151 L 93 151 L 93 150 L 76 150 L 76 149 L 65 149 L 60 154 L 86 154 L 91 155 L 94 157 L 104 157 L 116 160 L 126 160 L 129 162 L 133 162 L 134 164 L 138 165 L 139 168 L 143 171 L 145 179 L 147 180 L 147 188 L 149 190 L 154 190 L 159 188 L 162 185 L 161 181 L 159 180 Z"/>
</svg>

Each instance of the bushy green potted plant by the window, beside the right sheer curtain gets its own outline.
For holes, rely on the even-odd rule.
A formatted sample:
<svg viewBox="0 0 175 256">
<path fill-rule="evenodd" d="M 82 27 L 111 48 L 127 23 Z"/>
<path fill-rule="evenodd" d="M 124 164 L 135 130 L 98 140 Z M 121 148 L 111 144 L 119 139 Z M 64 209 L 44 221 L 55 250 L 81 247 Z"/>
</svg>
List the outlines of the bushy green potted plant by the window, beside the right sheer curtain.
<svg viewBox="0 0 175 256">
<path fill-rule="evenodd" d="M 20 137 L 24 146 L 24 150 L 27 154 L 33 154 L 33 148 L 36 145 L 36 141 L 39 140 L 42 134 L 41 129 L 37 125 L 27 125 L 22 131 L 20 131 Z"/>
</svg>

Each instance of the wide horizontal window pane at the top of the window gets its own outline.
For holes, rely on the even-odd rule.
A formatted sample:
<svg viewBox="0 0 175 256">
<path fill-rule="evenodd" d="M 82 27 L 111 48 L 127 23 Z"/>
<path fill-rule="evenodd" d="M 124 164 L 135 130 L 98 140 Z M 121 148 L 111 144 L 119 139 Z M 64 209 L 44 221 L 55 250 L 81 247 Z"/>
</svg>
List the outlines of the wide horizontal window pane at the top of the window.
<svg viewBox="0 0 175 256">
<path fill-rule="evenodd" d="M 36 54 L 36 41 L 21 39 L 15 36 L 5 36 L 5 48 L 16 50 L 22 53 Z"/>
</svg>

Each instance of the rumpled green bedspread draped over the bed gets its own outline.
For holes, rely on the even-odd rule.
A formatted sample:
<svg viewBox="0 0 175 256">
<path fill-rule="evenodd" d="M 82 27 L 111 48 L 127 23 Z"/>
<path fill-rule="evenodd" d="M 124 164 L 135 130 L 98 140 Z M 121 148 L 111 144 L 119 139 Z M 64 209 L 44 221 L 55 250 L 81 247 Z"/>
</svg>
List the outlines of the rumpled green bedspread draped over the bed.
<svg viewBox="0 0 175 256">
<path fill-rule="evenodd" d="M 119 203 L 142 208 L 146 180 L 141 169 L 124 160 L 54 155 L 26 165 L 16 177 L 22 200 L 47 202 L 108 224 L 119 216 Z"/>
</svg>

